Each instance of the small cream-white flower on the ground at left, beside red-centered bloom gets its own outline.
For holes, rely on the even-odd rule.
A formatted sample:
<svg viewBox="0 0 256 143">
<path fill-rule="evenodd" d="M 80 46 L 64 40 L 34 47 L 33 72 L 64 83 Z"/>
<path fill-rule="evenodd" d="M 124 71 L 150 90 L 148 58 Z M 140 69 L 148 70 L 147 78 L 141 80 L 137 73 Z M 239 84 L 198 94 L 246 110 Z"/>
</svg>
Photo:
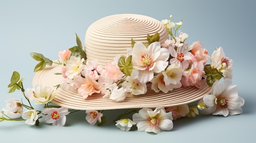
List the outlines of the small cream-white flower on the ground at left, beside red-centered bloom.
<svg viewBox="0 0 256 143">
<path fill-rule="evenodd" d="M 27 110 L 23 112 L 22 118 L 25 119 L 25 123 L 29 125 L 35 125 L 36 120 L 38 119 L 38 111 L 35 109 Z"/>
</svg>

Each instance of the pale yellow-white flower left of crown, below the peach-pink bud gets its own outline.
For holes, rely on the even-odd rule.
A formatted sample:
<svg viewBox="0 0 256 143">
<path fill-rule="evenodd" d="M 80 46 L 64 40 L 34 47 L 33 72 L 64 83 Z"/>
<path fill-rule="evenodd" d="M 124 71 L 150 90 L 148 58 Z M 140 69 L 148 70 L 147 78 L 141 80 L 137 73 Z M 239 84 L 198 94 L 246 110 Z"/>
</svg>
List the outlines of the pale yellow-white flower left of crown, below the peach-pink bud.
<svg viewBox="0 0 256 143">
<path fill-rule="evenodd" d="M 83 58 L 70 56 L 65 65 L 67 78 L 73 79 L 75 75 L 80 75 L 83 70 L 83 62 Z"/>
</svg>

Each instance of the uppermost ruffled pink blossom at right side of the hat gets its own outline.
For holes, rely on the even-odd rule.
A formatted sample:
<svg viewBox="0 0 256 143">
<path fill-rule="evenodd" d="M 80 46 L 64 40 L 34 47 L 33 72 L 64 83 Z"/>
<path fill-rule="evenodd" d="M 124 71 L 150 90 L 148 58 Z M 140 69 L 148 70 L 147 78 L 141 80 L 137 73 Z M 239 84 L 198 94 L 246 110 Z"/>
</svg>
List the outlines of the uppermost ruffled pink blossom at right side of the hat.
<svg viewBox="0 0 256 143">
<path fill-rule="evenodd" d="M 189 46 L 189 49 L 191 50 L 191 53 L 195 56 L 197 62 L 206 63 L 210 56 L 208 55 L 208 51 L 205 48 L 201 48 L 202 45 L 199 41 L 193 42 L 191 46 Z"/>
</svg>

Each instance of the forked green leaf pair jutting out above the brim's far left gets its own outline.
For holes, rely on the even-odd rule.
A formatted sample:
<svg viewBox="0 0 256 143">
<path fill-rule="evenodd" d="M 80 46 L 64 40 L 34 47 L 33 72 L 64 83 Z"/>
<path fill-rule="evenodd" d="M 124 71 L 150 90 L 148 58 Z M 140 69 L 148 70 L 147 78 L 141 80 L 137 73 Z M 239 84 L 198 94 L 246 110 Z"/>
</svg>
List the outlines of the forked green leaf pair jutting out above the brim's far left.
<svg viewBox="0 0 256 143">
<path fill-rule="evenodd" d="M 40 63 L 38 63 L 36 65 L 36 67 L 34 68 L 34 72 L 37 72 L 39 70 L 42 70 L 43 68 L 45 68 L 45 65 L 49 65 L 52 66 L 52 60 L 44 57 L 42 54 L 40 53 L 30 53 L 30 56 L 35 59 L 36 61 L 40 61 Z"/>
</svg>

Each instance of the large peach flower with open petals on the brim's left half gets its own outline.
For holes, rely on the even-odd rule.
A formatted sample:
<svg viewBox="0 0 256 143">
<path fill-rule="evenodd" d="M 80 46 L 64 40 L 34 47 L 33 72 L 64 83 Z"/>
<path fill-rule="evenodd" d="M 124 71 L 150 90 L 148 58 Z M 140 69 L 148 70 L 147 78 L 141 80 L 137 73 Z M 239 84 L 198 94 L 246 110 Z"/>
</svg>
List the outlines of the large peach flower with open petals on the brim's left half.
<svg viewBox="0 0 256 143">
<path fill-rule="evenodd" d="M 93 93 L 100 93 L 100 89 L 103 87 L 102 84 L 98 83 L 90 77 L 81 77 L 79 75 L 74 76 L 74 84 L 78 88 L 78 94 L 86 99 L 89 95 Z"/>
</svg>

